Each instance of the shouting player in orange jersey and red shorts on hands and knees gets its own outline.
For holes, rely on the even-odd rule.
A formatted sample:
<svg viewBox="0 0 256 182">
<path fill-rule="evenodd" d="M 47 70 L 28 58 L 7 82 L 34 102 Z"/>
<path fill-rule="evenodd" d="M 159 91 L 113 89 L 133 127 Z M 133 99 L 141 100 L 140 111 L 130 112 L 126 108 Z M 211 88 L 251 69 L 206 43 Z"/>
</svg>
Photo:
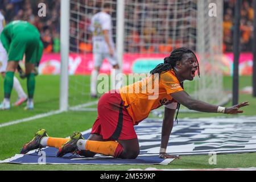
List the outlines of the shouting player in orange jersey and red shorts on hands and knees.
<svg viewBox="0 0 256 182">
<path fill-rule="evenodd" d="M 70 139 L 48 137 L 46 130 L 42 129 L 31 142 L 23 146 L 20 153 L 26 154 L 30 150 L 50 146 L 59 148 L 59 157 L 77 152 L 86 157 L 103 154 L 114 158 L 134 159 L 139 155 L 139 142 L 134 125 L 147 118 L 151 110 L 165 105 L 159 157 L 178 158 L 168 155 L 166 148 L 179 104 L 191 110 L 224 114 L 242 113 L 240 107 L 249 105 L 248 102 L 242 102 L 232 107 L 221 107 L 193 99 L 184 91 L 183 81 L 192 81 L 196 71 L 200 75 L 195 53 L 187 48 L 177 48 L 164 59 L 164 63 L 156 66 L 146 79 L 101 96 L 97 107 L 98 117 L 88 139 L 82 138 L 81 133 L 74 133 Z M 149 99 L 154 93 L 143 90 L 143 87 L 152 85 L 155 76 L 159 78 L 156 80 L 159 86 L 155 86 L 158 97 Z M 137 89 L 139 92 L 135 92 Z"/>
</svg>

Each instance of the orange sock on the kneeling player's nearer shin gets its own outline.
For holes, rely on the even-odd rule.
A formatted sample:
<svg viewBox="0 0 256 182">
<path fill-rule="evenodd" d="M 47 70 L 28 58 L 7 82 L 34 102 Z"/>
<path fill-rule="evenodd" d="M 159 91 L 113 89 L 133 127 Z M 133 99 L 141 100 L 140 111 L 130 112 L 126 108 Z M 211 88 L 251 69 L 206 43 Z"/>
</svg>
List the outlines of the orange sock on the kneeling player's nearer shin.
<svg viewBox="0 0 256 182">
<path fill-rule="evenodd" d="M 95 152 L 97 154 L 113 156 L 117 158 L 123 152 L 123 147 L 118 142 L 108 141 L 99 142 L 93 140 L 87 140 L 85 145 L 85 150 Z"/>
</svg>

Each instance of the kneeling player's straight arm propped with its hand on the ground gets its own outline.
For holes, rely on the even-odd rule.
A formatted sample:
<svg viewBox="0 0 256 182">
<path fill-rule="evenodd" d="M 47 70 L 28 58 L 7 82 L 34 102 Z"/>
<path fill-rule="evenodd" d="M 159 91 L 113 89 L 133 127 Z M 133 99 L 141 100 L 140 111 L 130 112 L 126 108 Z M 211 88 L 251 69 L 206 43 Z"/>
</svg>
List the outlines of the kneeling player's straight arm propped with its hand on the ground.
<svg viewBox="0 0 256 182">
<path fill-rule="evenodd" d="M 159 152 L 159 158 L 179 159 L 178 156 L 172 156 L 166 153 L 166 148 L 169 142 L 172 127 L 174 127 L 174 115 L 175 115 L 175 109 L 168 109 L 167 107 L 164 107 L 164 118 L 163 118 L 163 125 L 162 125 L 162 136 L 161 136 L 161 147 Z"/>
</svg>

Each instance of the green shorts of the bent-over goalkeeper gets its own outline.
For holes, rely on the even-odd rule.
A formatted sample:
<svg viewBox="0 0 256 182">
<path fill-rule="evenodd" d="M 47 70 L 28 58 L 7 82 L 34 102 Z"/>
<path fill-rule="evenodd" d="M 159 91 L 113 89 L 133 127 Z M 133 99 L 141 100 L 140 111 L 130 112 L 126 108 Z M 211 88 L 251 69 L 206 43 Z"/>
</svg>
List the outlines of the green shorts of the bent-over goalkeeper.
<svg viewBox="0 0 256 182">
<path fill-rule="evenodd" d="M 20 32 L 10 43 L 8 61 L 23 60 L 26 55 L 26 63 L 36 63 L 39 54 L 39 36 L 31 32 Z"/>
</svg>

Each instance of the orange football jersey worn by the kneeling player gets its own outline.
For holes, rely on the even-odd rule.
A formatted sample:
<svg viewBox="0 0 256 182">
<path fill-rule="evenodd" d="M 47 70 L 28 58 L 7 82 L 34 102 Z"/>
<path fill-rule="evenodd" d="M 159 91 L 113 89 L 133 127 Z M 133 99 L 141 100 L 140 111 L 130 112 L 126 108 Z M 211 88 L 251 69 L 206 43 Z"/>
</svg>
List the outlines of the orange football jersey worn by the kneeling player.
<svg viewBox="0 0 256 182">
<path fill-rule="evenodd" d="M 170 94 L 183 90 L 173 70 L 161 73 L 158 78 L 151 75 L 119 89 L 134 125 L 147 118 L 151 110 L 176 102 Z"/>
</svg>

